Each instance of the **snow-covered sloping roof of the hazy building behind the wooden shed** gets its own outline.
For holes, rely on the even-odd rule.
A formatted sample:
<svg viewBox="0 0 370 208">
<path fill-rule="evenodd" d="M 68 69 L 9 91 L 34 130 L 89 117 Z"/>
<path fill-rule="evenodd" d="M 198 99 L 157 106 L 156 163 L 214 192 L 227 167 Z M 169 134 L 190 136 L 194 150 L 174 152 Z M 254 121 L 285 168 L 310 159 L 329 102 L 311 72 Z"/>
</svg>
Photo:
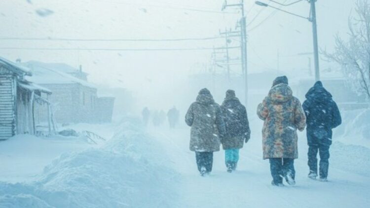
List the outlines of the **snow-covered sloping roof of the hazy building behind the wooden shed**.
<svg viewBox="0 0 370 208">
<path fill-rule="evenodd" d="M 28 81 L 37 84 L 80 84 L 86 87 L 96 88 L 93 84 L 78 79 L 71 74 L 58 69 L 48 68 L 39 62 L 26 62 L 23 65 L 31 69 L 34 76 L 27 78 Z M 72 68 L 72 67 L 71 67 Z"/>
</svg>

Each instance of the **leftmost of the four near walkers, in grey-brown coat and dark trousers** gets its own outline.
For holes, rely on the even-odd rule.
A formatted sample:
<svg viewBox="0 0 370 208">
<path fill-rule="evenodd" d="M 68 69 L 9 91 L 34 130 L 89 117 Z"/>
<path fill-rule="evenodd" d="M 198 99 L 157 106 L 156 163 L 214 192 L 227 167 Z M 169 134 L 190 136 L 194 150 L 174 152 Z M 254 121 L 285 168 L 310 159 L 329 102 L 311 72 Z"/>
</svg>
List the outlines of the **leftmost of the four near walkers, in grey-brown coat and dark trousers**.
<svg viewBox="0 0 370 208">
<path fill-rule="evenodd" d="M 185 122 L 191 127 L 190 150 L 195 152 L 198 171 L 204 176 L 211 173 L 213 152 L 220 151 L 225 134 L 221 107 L 208 89 L 199 91 L 196 101 L 187 110 Z"/>
</svg>

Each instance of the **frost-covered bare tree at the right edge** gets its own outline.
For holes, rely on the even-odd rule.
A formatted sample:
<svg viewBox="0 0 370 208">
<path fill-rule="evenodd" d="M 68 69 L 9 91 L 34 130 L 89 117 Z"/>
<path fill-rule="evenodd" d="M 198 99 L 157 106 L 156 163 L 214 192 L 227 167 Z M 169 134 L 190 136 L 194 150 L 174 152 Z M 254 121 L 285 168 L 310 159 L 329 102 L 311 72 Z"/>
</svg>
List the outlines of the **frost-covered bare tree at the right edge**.
<svg viewBox="0 0 370 208">
<path fill-rule="evenodd" d="M 323 52 L 326 59 L 338 63 L 358 93 L 370 101 L 370 0 L 357 0 L 348 17 L 348 40 L 335 36 L 333 53 Z"/>
</svg>

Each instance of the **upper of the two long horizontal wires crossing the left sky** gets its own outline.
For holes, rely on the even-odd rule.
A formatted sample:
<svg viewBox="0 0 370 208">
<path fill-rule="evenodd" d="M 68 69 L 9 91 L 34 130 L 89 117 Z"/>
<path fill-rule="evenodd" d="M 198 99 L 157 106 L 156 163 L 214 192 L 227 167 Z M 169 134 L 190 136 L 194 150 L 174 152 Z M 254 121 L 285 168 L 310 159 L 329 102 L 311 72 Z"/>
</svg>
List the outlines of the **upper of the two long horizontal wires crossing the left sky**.
<svg viewBox="0 0 370 208">
<path fill-rule="evenodd" d="M 166 42 L 166 41 L 194 41 L 194 40 L 214 40 L 224 38 L 216 37 L 199 37 L 199 38 L 174 38 L 174 39 L 79 39 L 79 38 L 51 38 L 51 37 L 0 37 L 0 40 L 47 40 L 47 41 L 132 41 L 132 42 Z"/>
</svg>

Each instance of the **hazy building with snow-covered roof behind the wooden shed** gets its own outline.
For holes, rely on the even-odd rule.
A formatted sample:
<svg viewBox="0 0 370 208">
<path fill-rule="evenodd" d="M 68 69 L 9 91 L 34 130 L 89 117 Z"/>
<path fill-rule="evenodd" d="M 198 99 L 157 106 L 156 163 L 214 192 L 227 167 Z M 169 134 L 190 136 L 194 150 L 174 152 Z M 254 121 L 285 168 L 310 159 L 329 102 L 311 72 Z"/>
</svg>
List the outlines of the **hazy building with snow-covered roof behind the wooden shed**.
<svg viewBox="0 0 370 208">
<path fill-rule="evenodd" d="M 47 64 L 30 61 L 23 64 L 36 75 L 33 82 L 47 87 L 53 94 L 53 112 L 58 123 L 111 122 L 114 98 L 99 98 L 97 88 L 87 82 L 87 73 L 66 64 Z M 38 109 L 40 119 L 45 120 L 44 109 Z"/>
</svg>

